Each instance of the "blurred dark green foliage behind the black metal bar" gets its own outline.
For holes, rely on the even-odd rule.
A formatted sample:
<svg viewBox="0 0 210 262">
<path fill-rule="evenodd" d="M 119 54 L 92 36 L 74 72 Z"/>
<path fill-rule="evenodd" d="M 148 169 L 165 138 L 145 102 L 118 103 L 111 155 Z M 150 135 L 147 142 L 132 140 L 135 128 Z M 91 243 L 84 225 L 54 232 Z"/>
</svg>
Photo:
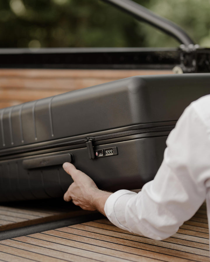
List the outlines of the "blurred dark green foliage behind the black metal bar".
<svg viewBox="0 0 210 262">
<path fill-rule="evenodd" d="M 136 0 L 210 47 L 209 0 Z M 100 0 L 1 0 L 0 47 L 172 47 L 179 43 Z"/>
</svg>

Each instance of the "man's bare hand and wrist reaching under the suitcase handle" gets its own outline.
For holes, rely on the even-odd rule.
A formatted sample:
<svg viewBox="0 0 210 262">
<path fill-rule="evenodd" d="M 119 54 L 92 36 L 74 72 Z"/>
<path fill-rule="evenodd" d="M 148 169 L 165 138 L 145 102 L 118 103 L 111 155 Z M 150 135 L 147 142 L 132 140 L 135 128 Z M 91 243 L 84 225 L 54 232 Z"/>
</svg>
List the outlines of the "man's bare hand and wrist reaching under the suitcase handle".
<svg viewBox="0 0 210 262">
<path fill-rule="evenodd" d="M 98 210 L 105 215 L 104 205 L 111 193 L 99 190 L 94 181 L 82 171 L 77 170 L 73 164 L 66 162 L 63 164 L 63 169 L 74 180 L 64 194 L 64 200 L 72 200 L 76 206 L 85 210 Z"/>
</svg>

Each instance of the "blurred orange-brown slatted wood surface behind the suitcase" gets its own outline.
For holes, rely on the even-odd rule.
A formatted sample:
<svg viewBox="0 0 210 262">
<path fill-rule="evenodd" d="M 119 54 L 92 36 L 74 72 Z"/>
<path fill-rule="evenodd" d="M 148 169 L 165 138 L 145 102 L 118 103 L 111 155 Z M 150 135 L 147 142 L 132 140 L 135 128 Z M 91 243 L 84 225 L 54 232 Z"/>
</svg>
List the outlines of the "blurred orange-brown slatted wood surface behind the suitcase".
<svg viewBox="0 0 210 262">
<path fill-rule="evenodd" d="M 0 69 L 0 108 L 125 77 L 171 73 L 170 70 Z"/>
</svg>

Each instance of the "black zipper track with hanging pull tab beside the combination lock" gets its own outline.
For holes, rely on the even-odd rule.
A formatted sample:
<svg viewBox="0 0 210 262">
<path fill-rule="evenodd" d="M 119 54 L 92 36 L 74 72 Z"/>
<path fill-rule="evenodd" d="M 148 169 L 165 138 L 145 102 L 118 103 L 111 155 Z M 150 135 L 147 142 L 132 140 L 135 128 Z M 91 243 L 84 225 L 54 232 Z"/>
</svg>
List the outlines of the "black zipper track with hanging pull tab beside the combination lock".
<svg viewBox="0 0 210 262">
<path fill-rule="evenodd" d="M 118 137 L 125 137 L 130 136 L 134 134 L 144 134 L 144 133 L 151 133 L 151 132 L 167 132 L 171 131 L 175 125 L 164 125 L 164 126 L 157 126 L 157 127 L 151 127 L 151 128 L 139 128 L 134 130 L 127 130 L 122 132 L 116 132 L 112 134 L 106 134 L 102 136 L 96 136 L 96 137 L 87 137 L 85 139 L 85 143 L 88 149 L 88 157 L 89 159 L 94 159 L 95 154 L 93 150 L 93 142 L 94 141 L 100 141 L 105 139 L 112 139 L 112 138 L 118 138 Z"/>
</svg>

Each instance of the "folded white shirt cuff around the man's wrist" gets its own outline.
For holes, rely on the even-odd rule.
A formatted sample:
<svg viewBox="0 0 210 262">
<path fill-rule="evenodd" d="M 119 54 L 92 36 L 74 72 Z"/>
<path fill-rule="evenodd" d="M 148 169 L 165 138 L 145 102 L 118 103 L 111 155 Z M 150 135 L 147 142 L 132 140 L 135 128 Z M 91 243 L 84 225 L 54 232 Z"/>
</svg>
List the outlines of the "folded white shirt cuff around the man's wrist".
<svg viewBox="0 0 210 262">
<path fill-rule="evenodd" d="M 125 219 L 125 208 L 128 201 L 136 196 L 137 193 L 131 192 L 129 190 L 119 190 L 111 194 L 106 200 L 104 206 L 104 212 L 107 218 L 115 225 L 121 229 L 128 230 L 126 226 Z M 131 231 L 130 231 L 131 232 Z"/>
</svg>

